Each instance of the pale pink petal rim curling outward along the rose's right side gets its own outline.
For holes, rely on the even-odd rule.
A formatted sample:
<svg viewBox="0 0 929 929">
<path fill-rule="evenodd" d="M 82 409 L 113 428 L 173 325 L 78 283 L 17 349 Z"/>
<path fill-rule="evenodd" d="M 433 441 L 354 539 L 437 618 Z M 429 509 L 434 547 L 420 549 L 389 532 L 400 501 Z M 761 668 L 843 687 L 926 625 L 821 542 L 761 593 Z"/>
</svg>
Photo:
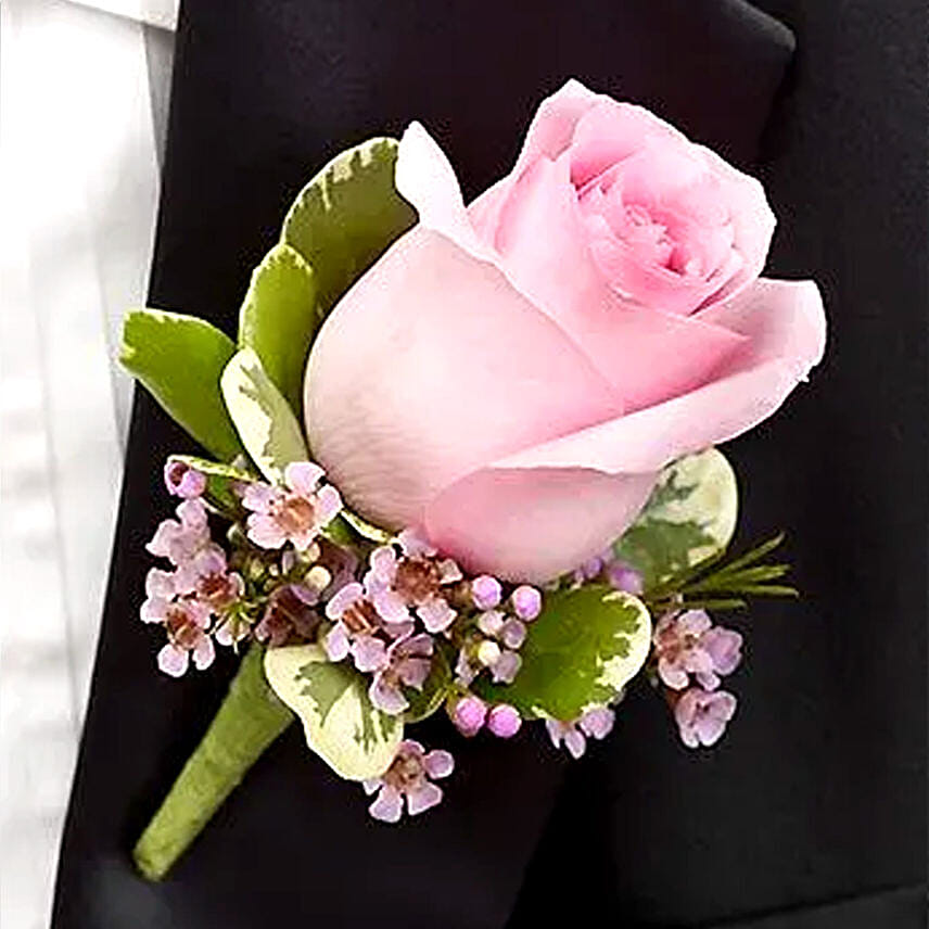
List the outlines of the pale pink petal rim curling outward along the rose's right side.
<svg viewBox="0 0 929 929">
<path fill-rule="evenodd" d="M 758 425 L 823 357 L 826 317 L 812 281 L 761 279 L 704 316 L 748 336 L 716 379 L 666 403 L 508 456 L 495 467 L 653 473 Z"/>
</svg>

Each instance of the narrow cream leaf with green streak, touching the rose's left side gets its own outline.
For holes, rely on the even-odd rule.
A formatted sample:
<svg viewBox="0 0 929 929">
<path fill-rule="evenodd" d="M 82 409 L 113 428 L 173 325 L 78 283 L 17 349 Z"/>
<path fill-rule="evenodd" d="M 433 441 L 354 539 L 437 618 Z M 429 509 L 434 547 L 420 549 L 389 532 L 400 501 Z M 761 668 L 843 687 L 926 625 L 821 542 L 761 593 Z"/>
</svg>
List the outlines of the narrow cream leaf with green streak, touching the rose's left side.
<svg viewBox="0 0 929 929">
<path fill-rule="evenodd" d="M 269 481 L 280 483 L 291 461 L 309 457 L 290 405 L 252 348 L 241 348 L 232 356 L 220 385 L 229 416 L 252 460 Z"/>
</svg>

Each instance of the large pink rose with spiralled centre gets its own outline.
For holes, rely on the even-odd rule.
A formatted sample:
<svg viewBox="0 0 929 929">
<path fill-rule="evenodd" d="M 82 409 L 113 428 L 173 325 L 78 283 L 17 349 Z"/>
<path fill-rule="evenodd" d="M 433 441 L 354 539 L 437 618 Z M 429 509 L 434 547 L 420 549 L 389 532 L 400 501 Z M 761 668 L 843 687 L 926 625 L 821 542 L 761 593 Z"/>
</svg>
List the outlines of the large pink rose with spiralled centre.
<svg viewBox="0 0 929 929">
<path fill-rule="evenodd" d="M 761 184 L 569 81 L 465 206 L 413 123 L 419 212 L 330 315 L 314 457 L 351 506 L 474 571 L 544 581 L 601 551 L 657 472 L 769 416 L 823 354 L 816 285 L 759 278 Z"/>
</svg>

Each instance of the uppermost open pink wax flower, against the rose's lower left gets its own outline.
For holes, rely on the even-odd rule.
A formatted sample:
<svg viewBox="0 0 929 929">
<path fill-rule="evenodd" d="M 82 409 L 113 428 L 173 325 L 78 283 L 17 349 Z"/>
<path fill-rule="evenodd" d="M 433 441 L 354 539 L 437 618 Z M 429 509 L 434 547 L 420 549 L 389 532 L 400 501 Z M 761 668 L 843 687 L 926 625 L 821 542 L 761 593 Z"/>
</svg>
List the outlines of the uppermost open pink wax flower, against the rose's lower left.
<svg viewBox="0 0 929 929">
<path fill-rule="evenodd" d="M 249 538 L 262 548 L 280 548 L 290 542 L 305 551 L 342 509 L 339 492 L 319 486 L 323 470 L 310 461 L 293 461 L 284 469 L 283 487 L 249 484 L 242 496 Z"/>
</svg>

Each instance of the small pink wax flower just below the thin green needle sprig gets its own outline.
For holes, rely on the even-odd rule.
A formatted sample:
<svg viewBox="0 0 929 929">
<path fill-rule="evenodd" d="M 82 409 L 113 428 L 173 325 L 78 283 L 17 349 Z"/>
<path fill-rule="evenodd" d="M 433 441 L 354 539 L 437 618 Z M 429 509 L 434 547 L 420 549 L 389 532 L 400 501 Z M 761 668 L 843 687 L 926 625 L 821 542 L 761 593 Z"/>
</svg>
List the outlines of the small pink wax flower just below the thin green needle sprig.
<svg viewBox="0 0 929 929">
<path fill-rule="evenodd" d="M 720 686 L 720 675 L 730 674 L 741 660 L 742 637 L 714 626 L 703 610 L 686 610 L 662 616 L 652 635 L 658 676 L 673 690 L 683 690 L 692 674 L 707 690 Z"/>
</svg>

